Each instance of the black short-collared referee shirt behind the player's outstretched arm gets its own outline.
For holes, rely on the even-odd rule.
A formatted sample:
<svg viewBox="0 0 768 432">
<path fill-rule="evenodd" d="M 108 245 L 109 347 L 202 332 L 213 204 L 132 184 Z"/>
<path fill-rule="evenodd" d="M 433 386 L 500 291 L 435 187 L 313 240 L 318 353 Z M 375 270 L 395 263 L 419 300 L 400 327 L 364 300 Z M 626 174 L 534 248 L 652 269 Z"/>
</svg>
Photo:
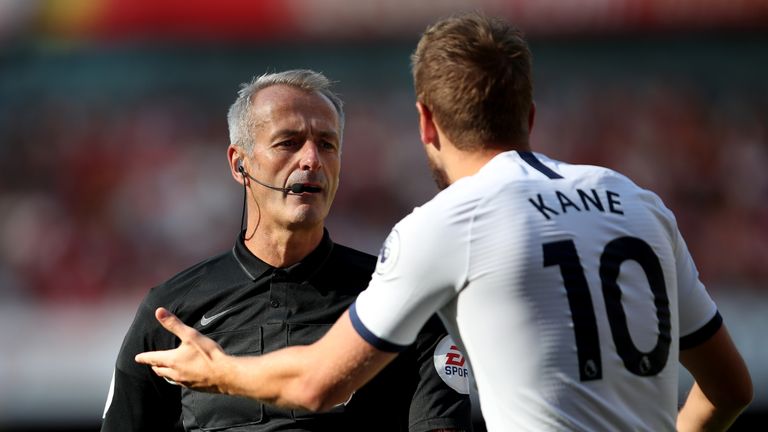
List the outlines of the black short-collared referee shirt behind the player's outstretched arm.
<svg viewBox="0 0 768 432">
<path fill-rule="evenodd" d="M 123 341 L 102 431 L 428 431 L 470 429 L 470 402 L 437 375 L 433 352 L 446 332 L 433 317 L 417 341 L 345 405 L 313 414 L 190 391 L 167 383 L 136 354 L 175 348 L 154 311 L 164 306 L 229 354 L 262 354 L 319 339 L 367 286 L 376 258 L 334 244 L 325 232 L 301 262 L 274 268 L 238 239 L 144 298 Z M 183 425 L 183 426 L 182 426 Z"/>
</svg>

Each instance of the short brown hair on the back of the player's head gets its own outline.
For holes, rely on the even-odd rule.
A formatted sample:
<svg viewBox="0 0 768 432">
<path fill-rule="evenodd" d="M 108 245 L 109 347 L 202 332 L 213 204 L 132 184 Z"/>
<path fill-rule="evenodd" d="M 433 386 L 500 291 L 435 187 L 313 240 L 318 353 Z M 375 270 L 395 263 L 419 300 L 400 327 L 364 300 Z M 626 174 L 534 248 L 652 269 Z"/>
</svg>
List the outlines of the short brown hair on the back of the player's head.
<svg viewBox="0 0 768 432">
<path fill-rule="evenodd" d="M 523 34 L 479 13 L 429 26 L 411 56 L 416 98 L 460 149 L 527 139 L 531 53 Z"/>
</svg>

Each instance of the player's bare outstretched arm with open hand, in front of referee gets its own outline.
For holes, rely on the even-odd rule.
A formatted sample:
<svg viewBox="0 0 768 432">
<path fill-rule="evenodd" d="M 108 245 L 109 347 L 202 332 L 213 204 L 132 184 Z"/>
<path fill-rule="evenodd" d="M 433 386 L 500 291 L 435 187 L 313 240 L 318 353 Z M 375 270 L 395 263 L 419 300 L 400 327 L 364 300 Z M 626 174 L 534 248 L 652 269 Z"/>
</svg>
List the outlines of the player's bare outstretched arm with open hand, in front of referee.
<svg viewBox="0 0 768 432">
<path fill-rule="evenodd" d="M 251 357 L 227 355 L 216 342 L 163 308 L 155 316 L 181 344 L 173 350 L 139 354 L 137 362 L 185 387 L 283 407 L 330 409 L 349 399 L 397 355 L 366 342 L 352 326 L 349 312 L 312 345 Z"/>
</svg>

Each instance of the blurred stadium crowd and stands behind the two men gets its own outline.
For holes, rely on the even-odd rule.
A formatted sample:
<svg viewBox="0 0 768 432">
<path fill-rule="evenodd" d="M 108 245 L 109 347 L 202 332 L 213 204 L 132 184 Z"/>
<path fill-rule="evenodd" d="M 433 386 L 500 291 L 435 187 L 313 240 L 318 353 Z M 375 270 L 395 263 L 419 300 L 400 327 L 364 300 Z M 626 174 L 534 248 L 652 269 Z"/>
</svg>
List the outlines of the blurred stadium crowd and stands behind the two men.
<svg viewBox="0 0 768 432">
<path fill-rule="evenodd" d="M 734 430 L 765 422 L 768 2 L 2 0 L 0 430 L 97 429 L 140 298 L 231 246 L 225 114 L 253 75 L 338 81 L 328 226 L 376 253 L 434 194 L 408 56 L 468 9 L 529 35 L 536 150 L 622 171 L 677 214 L 755 380 Z"/>
</svg>

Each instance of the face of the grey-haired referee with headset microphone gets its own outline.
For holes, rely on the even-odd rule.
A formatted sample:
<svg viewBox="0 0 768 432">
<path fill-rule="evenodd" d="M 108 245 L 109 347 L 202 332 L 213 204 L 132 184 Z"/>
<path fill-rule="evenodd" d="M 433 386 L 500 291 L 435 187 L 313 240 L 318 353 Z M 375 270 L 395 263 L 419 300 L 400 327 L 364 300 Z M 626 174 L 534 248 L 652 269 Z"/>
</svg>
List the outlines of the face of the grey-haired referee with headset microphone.
<svg viewBox="0 0 768 432">
<path fill-rule="evenodd" d="M 286 85 L 260 90 L 251 104 L 251 175 L 278 187 L 301 183 L 320 188 L 293 194 L 252 182 L 258 223 L 292 230 L 322 228 L 339 186 L 341 166 L 339 118 L 333 104 L 319 93 Z"/>
</svg>

